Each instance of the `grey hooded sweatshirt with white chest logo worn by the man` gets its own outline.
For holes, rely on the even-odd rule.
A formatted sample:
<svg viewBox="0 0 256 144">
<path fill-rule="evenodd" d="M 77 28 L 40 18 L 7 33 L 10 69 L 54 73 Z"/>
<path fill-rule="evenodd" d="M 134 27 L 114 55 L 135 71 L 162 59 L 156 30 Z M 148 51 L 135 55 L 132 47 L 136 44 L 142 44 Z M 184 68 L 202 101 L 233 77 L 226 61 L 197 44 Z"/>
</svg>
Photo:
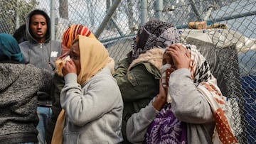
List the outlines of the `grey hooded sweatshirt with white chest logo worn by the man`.
<svg viewBox="0 0 256 144">
<path fill-rule="evenodd" d="M 46 41 L 39 43 L 30 31 L 31 16 L 41 14 L 47 21 Z M 46 70 L 55 70 L 55 60 L 61 55 L 61 43 L 55 40 L 50 40 L 50 18 L 46 12 L 39 9 L 31 11 L 26 19 L 26 38 L 25 41 L 19 44 L 23 53 L 25 63 L 31 63 L 36 67 Z M 38 105 L 51 106 L 52 98 L 47 93 L 38 92 Z"/>
</svg>

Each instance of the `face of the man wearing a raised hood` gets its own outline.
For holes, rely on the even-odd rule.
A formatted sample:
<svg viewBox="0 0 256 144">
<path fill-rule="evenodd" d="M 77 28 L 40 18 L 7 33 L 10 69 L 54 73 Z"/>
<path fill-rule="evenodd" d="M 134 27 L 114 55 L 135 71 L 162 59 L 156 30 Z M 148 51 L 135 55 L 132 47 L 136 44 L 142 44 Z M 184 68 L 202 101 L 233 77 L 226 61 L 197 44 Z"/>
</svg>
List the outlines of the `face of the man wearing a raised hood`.
<svg viewBox="0 0 256 144">
<path fill-rule="evenodd" d="M 41 14 L 36 14 L 31 17 L 30 23 L 31 33 L 39 43 L 43 43 L 46 40 L 47 21 Z"/>
</svg>

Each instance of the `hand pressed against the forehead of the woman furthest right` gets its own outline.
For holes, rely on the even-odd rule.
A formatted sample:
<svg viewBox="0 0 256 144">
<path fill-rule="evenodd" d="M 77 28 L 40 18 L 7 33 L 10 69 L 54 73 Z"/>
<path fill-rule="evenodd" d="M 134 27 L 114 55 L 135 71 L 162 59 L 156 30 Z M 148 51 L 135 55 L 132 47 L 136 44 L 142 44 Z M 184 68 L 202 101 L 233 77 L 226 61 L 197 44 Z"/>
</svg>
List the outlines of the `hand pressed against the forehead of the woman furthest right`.
<svg viewBox="0 0 256 144">
<path fill-rule="evenodd" d="M 170 45 L 169 48 L 166 48 L 166 53 L 171 55 L 176 69 L 189 68 L 191 55 L 185 45 L 181 43 Z"/>
</svg>

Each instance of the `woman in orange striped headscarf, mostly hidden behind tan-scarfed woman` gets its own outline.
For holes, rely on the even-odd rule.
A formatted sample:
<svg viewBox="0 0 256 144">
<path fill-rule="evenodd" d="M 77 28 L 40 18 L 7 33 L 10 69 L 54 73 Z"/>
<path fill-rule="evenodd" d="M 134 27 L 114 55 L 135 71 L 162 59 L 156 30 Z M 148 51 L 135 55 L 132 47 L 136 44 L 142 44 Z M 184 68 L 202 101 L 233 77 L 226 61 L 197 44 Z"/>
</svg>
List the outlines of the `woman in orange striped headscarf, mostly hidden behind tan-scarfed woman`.
<svg viewBox="0 0 256 144">
<path fill-rule="evenodd" d="M 88 38 L 95 38 L 95 35 L 90 31 L 86 26 L 82 26 L 80 24 L 73 24 L 69 26 L 63 33 L 62 40 L 62 51 L 63 55 L 58 57 L 58 60 L 55 62 L 55 77 L 53 79 L 54 82 L 54 90 L 52 92 L 53 95 L 53 106 L 52 111 L 53 114 L 48 121 L 48 125 L 46 128 L 46 141 L 47 143 L 62 143 L 62 131 L 65 123 L 65 111 L 60 106 L 60 91 L 64 87 L 64 79 L 63 79 L 63 65 L 66 60 L 69 60 L 69 51 L 73 40 L 78 38 L 78 35 L 84 35 Z M 107 65 L 111 68 L 112 74 L 114 73 L 114 60 L 111 57 L 108 57 Z M 58 118 L 58 121 L 57 121 Z M 56 124 L 56 121 L 58 124 Z M 52 140 L 53 138 L 53 140 Z"/>
</svg>

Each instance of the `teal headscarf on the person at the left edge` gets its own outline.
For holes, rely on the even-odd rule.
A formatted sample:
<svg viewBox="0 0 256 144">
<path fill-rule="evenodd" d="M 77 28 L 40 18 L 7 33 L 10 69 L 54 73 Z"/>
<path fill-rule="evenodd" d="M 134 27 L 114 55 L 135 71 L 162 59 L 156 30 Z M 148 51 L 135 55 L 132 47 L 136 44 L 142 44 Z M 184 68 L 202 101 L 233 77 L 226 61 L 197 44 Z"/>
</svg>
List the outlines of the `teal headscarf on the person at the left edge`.
<svg viewBox="0 0 256 144">
<path fill-rule="evenodd" d="M 15 60 L 23 62 L 23 54 L 17 40 L 10 34 L 0 34 L 0 60 Z"/>
</svg>

